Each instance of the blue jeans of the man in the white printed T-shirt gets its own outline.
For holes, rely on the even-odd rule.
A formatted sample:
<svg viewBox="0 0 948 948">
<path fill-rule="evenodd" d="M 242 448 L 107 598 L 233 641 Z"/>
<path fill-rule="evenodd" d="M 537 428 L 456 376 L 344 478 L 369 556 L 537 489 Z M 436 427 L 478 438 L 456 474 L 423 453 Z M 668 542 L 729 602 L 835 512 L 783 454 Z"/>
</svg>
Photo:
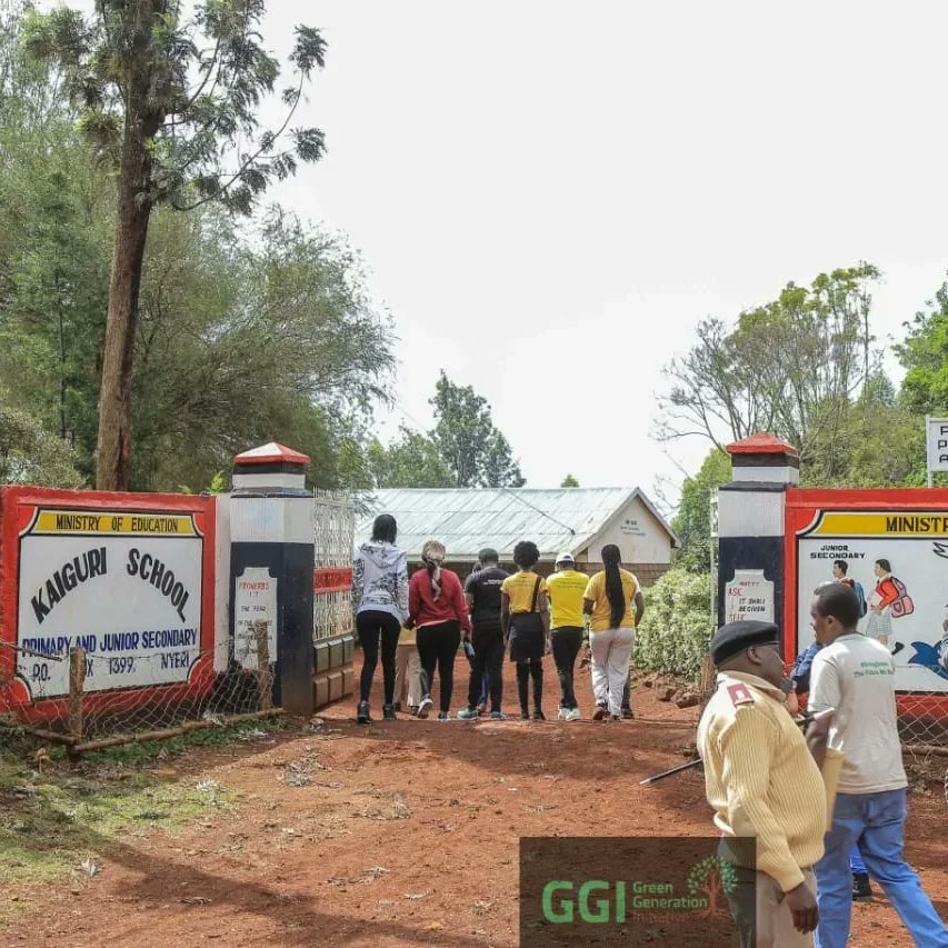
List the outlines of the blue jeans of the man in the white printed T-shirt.
<svg viewBox="0 0 948 948">
<path fill-rule="evenodd" d="M 948 929 L 902 858 L 906 791 L 839 794 L 826 852 L 817 862 L 816 948 L 845 948 L 852 908 L 849 855 L 858 844 L 869 875 L 881 885 L 915 944 L 948 948 Z"/>
</svg>

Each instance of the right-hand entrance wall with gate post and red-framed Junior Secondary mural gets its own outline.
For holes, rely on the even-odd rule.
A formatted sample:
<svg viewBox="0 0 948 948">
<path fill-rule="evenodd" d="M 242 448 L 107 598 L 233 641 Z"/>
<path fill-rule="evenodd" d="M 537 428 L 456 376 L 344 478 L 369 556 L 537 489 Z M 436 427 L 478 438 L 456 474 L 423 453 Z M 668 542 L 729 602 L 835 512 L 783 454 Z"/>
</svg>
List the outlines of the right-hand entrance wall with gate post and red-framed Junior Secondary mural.
<svg viewBox="0 0 948 948">
<path fill-rule="evenodd" d="M 769 435 L 729 445 L 717 497 L 717 618 L 776 621 L 791 663 L 812 640 L 814 590 L 834 563 L 861 587 L 859 631 L 896 665 L 902 738 L 948 747 L 948 489 L 800 488 L 797 450 Z"/>
</svg>

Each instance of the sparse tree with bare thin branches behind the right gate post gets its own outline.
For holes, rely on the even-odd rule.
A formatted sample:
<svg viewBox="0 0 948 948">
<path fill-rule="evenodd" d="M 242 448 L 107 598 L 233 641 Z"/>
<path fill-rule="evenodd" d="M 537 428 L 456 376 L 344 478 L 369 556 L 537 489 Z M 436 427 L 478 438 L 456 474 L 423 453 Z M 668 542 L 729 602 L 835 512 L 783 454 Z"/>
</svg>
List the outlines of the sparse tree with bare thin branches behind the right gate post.
<svg viewBox="0 0 948 948">
<path fill-rule="evenodd" d="M 878 363 L 868 323 L 868 285 L 878 277 L 869 263 L 834 270 L 809 288 L 789 283 L 734 329 L 702 321 L 698 342 L 666 369 L 662 437 L 700 435 L 722 448 L 774 431 L 809 461 L 818 441 L 846 431 Z"/>
</svg>

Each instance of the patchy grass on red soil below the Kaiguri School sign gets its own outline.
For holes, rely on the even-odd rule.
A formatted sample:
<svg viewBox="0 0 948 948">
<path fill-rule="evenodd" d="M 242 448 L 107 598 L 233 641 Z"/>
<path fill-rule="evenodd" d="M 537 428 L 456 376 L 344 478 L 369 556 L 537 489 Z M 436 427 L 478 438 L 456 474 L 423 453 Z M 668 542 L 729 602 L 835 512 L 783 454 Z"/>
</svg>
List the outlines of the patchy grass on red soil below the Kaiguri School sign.
<svg viewBox="0 0 948 948">
<path fill-rule="evenodd" d="M 0 730 L 0 926 L 31 906 L 34 888 L 101 862 L 110 847 L 154 829 L 180 831 L 234 811 L 237 795 L 213 780 L 176 778 L 161 765 L 198 747 L 252 740 L 288 724 L 273 718 L 193 731 L 167 741 L 110 748 L 72 767 L 62 748 Z M 10 895 L 19 895 L 11 900 Z"/>
</svg>

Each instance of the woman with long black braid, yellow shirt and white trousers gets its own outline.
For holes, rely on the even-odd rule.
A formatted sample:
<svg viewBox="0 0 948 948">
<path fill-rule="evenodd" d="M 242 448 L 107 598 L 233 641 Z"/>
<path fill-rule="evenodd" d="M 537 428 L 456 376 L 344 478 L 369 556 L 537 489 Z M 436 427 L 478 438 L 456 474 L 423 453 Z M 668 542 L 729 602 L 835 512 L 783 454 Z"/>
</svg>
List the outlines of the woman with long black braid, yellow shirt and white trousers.
<svg viewBox="0 0 948 948">
<path fill-rule="evenodd" d="M 601 721 L 608 712 L 613 721 L 619 721 L 622 688 L 629 677 L 636 627 L 645 612 L 645 601 L 636 576 L 620 566 L 619 548 L 607 543 L 600 556 L 605 569 L 590 578 L 582 599 L 582 611 L 590 617 L 589 647 L 596 695 L 592 720 Z"/>
</svg>

